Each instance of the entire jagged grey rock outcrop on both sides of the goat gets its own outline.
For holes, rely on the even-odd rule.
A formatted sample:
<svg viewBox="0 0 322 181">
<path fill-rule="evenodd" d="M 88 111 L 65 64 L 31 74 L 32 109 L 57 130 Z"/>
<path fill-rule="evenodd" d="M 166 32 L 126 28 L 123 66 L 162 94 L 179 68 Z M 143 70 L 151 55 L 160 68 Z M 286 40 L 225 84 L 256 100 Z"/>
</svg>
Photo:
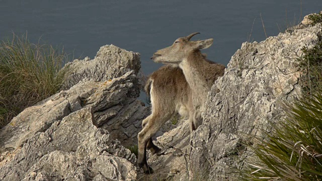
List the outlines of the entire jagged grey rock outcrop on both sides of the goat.
<svg viewBox="0 0 322 181">
<path fill-rule="evenodd" d="M 148 155 L 144 175 L 125 147 L 136 145 L 148 107 L 139 54 L 113 45 L 94 59 L 74 60 L 60 93 L 27 108 L 0 130 L 0 180 L 233 180 L 251 154 L 243 142 L 284 116 L 278 102 L 301 95 L 296 58 L 322 36 L 307 18 L 287 33 L 244 43 L 211 88 L 203 124 L 190 138 L 181 119 Z M 169 126 L 170 125 L 170 126 Z M 125 147 L 124 147 L 125 146 Z M 230 173 L 230 174 L 229 174 Z"/>
</svg>

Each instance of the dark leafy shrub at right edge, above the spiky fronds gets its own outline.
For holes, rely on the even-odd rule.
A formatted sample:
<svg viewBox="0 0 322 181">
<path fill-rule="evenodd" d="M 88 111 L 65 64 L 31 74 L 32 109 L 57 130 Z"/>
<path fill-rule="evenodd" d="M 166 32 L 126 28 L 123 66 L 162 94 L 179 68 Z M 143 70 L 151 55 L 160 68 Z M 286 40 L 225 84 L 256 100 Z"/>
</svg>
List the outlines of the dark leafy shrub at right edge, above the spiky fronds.
<svg viewBox="0 0 322 181">
<path fill-rule="evenodd" d="M 322 91 L 322 41 L 313 48 L 303 47 L 304 55 L 297 59 L 299 70 L 303 72 L 300 82 L 303 95 L 310 96 Z"/>
</svg>

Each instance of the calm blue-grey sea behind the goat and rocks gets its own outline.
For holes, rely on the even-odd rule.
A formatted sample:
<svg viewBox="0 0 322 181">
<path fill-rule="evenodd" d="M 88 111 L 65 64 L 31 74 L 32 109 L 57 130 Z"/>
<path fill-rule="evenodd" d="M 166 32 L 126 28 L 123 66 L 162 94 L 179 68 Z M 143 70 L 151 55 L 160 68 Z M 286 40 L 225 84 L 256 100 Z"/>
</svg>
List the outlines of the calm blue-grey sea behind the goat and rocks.
<svg viewBox="0 0 322 181">
<path fill-rule="evenodd" d="M 40 1 L 0 0 L 0 40 L 28 32 L 36 43 L 63 46 L 74 57 L 94 58 L 99 48 L 113 44 L 141 54 L 144 74 L 162 64 L 154 51 L 178 37 L 200 32 L 194 39 L 214 38 L 208 58 L 227 65 L 233 53 L 250 40 L 265 40 L 285 29 L 285 22 L 322 10 L 321 0 L 212 1 Z M 254 26 L 253 26 L 254 23 Z M 252 31 L 253 27 L 253 31 Z M 144 99 L 142 96 L 141 99 Z"/>
</svg>

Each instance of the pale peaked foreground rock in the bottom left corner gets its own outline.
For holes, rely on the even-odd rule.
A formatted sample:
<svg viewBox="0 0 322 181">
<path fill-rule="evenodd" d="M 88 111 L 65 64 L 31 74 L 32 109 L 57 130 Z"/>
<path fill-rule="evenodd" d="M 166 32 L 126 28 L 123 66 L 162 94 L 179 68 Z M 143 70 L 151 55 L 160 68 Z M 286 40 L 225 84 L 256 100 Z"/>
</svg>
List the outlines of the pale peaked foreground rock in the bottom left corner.
<svg viewBox="0 0 322 181">
<path fill-rule="evenodd" d="M 29 138 L 15 157 L 0 166 L 2 180 L 89 180 L 100 174 L 97 167 L 119 174 L 112 180 L 136 177 L 135 155 L 108 131 L 93 125 L 92 108 L 84 108 L 54 122 L 46 131 Z M 99 159 L 118 163 L 108 165 Z"/>
</svg>

